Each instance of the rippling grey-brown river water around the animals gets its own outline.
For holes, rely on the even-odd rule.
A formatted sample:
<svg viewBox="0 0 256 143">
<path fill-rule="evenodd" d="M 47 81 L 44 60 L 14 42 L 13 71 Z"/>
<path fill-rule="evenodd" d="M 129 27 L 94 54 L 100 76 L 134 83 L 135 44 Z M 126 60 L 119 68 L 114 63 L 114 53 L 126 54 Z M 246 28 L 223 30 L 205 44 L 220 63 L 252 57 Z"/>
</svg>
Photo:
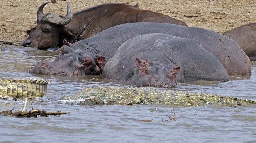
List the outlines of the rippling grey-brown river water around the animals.
<svg viewBox="0 0 256 143">
<path fill-rule="evenodd" d="M 2 47 L 3 48 L 3 47 Z M 6 48 L 0 51 L 0 78 L 51 80 L 47 95 L 33 101 L 34 109 L 63 111 L 60 117 L 14 118 L 0 116 L 0 142 L 256 142 L 255 106 L 237 108 L 208 105 L 78 106 L 60 101 L 85 87 L 133 86 L 100 76 L 31 75 L 39 60 L 53 61 L 57 52 Z M 231 76 L 225 83 L 196 81 L 178 83 L 178 89 L 256 99 L 256 62 L 251 76 Z M 22 110 L 24 100 L 0 100 L 1 110 Z M 27 110 L 32 110 L 28 103 Z M 174 116 L 174 113 L 176 114 Z M 175 118 L 175 120 L 170 120 Z M 142 122 L 140 120 L 151 120 Z"/>
</svg>

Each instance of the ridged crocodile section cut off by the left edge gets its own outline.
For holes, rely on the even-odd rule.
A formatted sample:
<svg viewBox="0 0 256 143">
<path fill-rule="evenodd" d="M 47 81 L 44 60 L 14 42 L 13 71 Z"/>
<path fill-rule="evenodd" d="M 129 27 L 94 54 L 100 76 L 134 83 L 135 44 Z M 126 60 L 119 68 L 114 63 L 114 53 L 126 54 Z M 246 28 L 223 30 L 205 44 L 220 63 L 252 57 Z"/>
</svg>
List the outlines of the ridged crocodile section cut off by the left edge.
<svg viewBox="0 0 256 143">
<path fill-rule="evenodd" d="M 46 96 L 47 84 L 41 78 L 10 80 L 0 79 L 0 98 L 29 98 Z"/>
</svg>

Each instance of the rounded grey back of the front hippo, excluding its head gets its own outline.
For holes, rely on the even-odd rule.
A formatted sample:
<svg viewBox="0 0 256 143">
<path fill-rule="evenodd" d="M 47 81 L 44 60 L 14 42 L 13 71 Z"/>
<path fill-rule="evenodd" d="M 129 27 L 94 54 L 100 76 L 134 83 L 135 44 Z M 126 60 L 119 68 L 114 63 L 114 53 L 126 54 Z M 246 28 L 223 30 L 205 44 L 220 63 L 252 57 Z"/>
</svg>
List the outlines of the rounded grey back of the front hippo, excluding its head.
<svg viewBox="0 0 256 143">
<path fill-rule="evenodd" d="M 103 77 L 129 81 L 135 58 L 180 67 L 178 82 L 194 80 L 227 81 L 229 76 L 219 60 L 197 40 L 167 34 L 139 35 L 123 43 L 105 64 Z M 184 75 L 184 76 L 183 76 Z"/>
</svg>

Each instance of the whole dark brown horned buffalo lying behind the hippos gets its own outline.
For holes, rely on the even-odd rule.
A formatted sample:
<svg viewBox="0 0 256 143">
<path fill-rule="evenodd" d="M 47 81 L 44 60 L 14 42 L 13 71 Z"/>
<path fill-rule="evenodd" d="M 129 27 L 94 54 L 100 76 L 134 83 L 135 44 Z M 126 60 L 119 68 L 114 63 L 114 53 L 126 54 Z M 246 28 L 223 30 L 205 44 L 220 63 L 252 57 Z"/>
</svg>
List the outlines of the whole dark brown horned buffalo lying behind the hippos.
<svg viewBox="0 0 256 143">
<path fill-rule="evenodd" d="M 127 4 L 103 4 L 92 8 L 72 13 L 67 4 L 66 17 L 55 13 L 43 13 L 43 3 L 37 11 L 37 25 L 28 30 L 29 37 L 23 42 L 23 46 L 45 50 L 47 48 L 63 45 L 63 40 L 74 43 L 123 23 L 133 22 L 159 22 L 186 24 L 168 15 L 163 15 L 149 10 L 140 10 L 137 5 Z M 72 19 L 72 20 L 71 20 Z"/>
</svg>

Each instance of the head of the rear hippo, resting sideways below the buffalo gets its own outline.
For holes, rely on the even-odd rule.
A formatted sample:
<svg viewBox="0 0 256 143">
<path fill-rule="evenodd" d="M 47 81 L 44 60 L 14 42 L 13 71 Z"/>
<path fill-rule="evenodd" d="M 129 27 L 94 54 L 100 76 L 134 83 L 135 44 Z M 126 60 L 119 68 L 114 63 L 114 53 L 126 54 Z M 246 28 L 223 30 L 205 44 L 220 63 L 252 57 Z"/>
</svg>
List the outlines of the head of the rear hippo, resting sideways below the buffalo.
<svg viewBox="0 0 256 143">
<path fill-rule="evenodd" d="M 81 52 L 81 48 L 63 45 L 53 62 L 41 60 L 29 71 L 44 75 L 99 75 L 102 73 L 105 57 Z"/>
</svg>

